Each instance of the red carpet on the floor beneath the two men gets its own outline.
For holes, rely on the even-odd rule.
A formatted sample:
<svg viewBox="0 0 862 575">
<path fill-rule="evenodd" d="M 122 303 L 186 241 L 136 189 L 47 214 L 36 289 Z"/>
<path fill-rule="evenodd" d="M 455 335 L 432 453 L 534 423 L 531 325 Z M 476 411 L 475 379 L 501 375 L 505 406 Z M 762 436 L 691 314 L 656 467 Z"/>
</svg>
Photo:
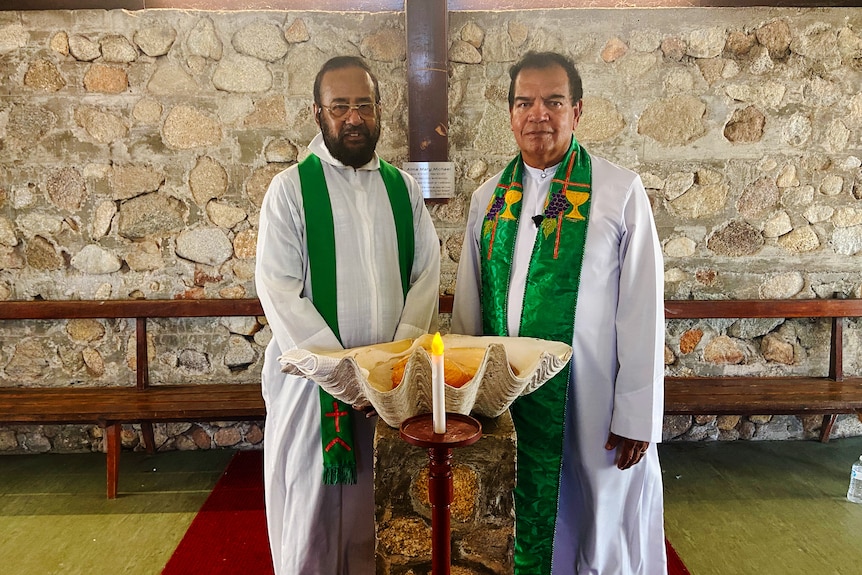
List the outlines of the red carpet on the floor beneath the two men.
<svg viewBox="0 0 862 575">
<path fill-rule="evenodd" d="M 668 575 L 691 575 L 669 542 Z M 162 575 L 271 575 L 263 507 L 263 453 L 238 451 Z"/>
</svg>

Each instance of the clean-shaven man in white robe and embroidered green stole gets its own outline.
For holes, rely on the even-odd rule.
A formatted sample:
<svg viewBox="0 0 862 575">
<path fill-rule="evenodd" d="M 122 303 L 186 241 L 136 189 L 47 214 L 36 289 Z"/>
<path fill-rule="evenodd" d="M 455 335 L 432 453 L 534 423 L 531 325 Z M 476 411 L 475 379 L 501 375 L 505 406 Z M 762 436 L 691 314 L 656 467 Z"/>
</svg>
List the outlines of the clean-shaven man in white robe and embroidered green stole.
<svg viewBox="0 0 862 575">
<path fill-rule="evenodd" d="M 511 406 L 515 574 L 664 574 L 663 262 L 650 202 L 637 174 L 573 137 L 583 90 L 569 58 L 530 52 L 509 74 L 520 154 L 473 194 L 452 331 L 573 349 Z"/>
</svg>

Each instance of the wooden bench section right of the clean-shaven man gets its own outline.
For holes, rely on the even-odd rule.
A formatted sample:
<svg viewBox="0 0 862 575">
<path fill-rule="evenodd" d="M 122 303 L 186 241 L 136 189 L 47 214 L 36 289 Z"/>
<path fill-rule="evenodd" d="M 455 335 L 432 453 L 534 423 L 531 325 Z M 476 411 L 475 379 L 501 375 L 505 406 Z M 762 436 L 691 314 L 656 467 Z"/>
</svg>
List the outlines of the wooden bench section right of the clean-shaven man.
<svg viewBox="0 0 862 575">
<path fill-rule="evenodd" d="M 823 415 L 820 440 L 835 418 L 862 412 L 862 378 L 845 378 L 844 318 L 862 317 L 862 299 L 667 300 L 665 318 L 826 318 L 829 372 L 822 377 L 665 377 L 668 415 Z"/>
</svg>

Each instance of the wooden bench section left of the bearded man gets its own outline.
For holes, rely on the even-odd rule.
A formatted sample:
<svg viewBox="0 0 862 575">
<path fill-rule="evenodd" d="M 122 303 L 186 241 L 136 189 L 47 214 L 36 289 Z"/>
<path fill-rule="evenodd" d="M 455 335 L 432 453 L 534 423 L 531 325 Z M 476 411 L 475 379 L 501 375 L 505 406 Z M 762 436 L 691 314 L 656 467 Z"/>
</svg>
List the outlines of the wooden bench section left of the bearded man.
<svg viewBox="0 0 862 575">
<path fill-rule="evenodd" d="M 96 424 L 104 429 L 108 498 L 117 496 L 120 432 L 141 423 L 148 450 L 155 447 L 154 422 L 262 420 L 260 382 L 150 385 L 147 320 L 261 316 L 257 299 L 4 301 L 0 320 L 135 320 L 136 385 L 110 387 L 0 387 L 0 423 Z"/>
</svg>

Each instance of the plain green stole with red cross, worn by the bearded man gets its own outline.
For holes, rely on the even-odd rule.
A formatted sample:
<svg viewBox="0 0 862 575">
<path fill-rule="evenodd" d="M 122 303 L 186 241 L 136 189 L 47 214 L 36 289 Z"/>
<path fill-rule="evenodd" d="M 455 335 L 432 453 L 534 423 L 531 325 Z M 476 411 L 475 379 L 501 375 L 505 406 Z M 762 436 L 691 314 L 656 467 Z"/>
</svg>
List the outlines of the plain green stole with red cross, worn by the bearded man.
<svg viewBox="0 0 862 575">
<path fill-rule="evenodd" d="M 413 208 L 404 178 L 398 170 L 380 160 L 380 175 L 386 185 L 395 232 L 398 238 L 398 263 L 404 298 L 410 289 L 413 269 Z M 332 204 L 320 158 L 310 154 L 299 164 L 308 266 L 311 273 L 312 303 L 341 342 L 338 330 L 337 261 Z M 313 222 L 313 225 L 312 225 Z M 320 437 L 323 447 L 323 483 L 356 483 L 356 456 L 353 452 L 353 409 L 335 399 L 322 387 L 320 391 Z"/>
</svg>

